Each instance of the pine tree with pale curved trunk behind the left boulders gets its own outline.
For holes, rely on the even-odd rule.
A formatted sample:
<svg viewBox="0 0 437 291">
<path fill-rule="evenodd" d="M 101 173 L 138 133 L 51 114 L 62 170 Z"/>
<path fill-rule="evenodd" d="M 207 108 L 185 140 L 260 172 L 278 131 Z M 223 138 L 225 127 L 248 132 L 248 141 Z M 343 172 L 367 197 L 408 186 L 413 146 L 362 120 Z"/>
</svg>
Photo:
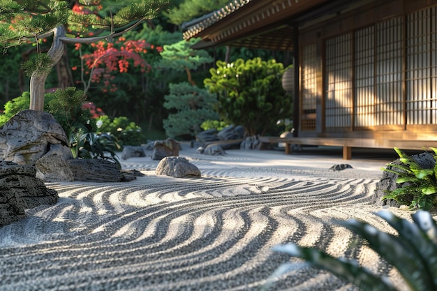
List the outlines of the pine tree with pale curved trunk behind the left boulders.
<svg viewBox="0 0 437 291">
<path fill-rule="evenodd" d="M 169 0 L 77 0 L 70 5 L 71 2 L 0 0 L 1 47 L 6 50 L 28 42 L 37 47 L 37 56 L 23 65 L 31 75 L 31 110 L 44 110 L 45 80 L 61 58 L 64 44 L 111 41 L 156 17 L 169 4 Z M 50 50 L 41 52 L 40 40 L 51 37 Z"/>
</svg>

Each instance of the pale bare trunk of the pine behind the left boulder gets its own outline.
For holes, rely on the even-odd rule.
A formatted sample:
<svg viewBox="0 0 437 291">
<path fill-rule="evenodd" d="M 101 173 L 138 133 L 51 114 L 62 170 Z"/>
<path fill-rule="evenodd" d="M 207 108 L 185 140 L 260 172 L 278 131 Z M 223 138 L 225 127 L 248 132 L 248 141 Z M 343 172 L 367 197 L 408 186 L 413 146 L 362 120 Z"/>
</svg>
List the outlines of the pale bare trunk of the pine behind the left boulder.
<svg viewBox="0 0 437 291">
<path fill-rule="evenodd" d="M 52 67 L 57 64 L 64 53 L 64 43 L 59 37 L 65 36 L 65 29 L 59 26 L 53 29 L 53 43 L 47 54 L 52 58 Z M 48 73 L 33 73 L 30 78 L 30 110 L 44 111 L 44 89 Z"/>
</svg>

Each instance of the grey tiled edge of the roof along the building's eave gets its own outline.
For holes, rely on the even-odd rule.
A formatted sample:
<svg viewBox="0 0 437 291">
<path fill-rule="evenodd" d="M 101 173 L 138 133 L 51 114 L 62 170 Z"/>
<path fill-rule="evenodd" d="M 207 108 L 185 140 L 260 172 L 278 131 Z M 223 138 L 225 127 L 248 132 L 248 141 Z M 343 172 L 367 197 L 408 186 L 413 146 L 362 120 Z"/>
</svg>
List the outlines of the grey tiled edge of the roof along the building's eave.
<svg viewBox="0 0 437 291">
<path fill-rule="evenodd" d="M 207 27 L 210 27 L 212 24 L 222 20 L 226 16 L 235 12 L 239 8 L 242 8 L 244 5 L 250 3 L 255 0 L 233 0 L 225 7 L 215 10 L 212 13 L 204 15 L 195 20 L 191 20 L 190 22 L 185 22 L 182 24 L 182 29 L 186 29 L 184 32 L 184 39 L 189 39 L 200 33 L 200 31 L 204 30 Z"/>
</svg>

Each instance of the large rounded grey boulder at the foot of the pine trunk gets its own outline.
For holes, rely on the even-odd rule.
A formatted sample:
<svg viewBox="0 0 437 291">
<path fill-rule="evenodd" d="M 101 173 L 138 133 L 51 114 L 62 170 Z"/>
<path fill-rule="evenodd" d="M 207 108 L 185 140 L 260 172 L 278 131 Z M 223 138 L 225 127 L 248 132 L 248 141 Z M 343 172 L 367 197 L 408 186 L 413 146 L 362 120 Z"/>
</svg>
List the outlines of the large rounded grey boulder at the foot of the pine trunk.
<svg viewBox="0 0 437 291">
<path fill-rule="evenodd" d="M 23 110 L 0 128 L 0 161 L 35 165 L 53 144 L 68 148 L 68 138 L 52 114 Z"/>
</svg>

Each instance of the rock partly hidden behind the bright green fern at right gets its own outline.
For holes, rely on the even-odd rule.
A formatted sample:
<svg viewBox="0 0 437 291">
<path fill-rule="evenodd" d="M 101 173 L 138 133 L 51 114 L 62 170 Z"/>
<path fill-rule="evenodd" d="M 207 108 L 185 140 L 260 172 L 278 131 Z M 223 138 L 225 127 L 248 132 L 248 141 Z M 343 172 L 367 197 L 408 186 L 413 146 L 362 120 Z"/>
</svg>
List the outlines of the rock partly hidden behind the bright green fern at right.
<svg viewBox="0 0 437 291">
<path fill-rule="evenodd" d="M 411 156 L 422 168 L 424 169 L 434 169 L 434 166 L 436 165 L 436 161 L 434 160 L 434 156 L 431 154 L 425 152 L 422 154 L 417 154 Z M 399 158 L 395 161 L 392 161 L 392 164 L 395 165 L 403 165 L 401 161 L 399 161 Z M 393 168 L 391 166 L 387 166 L 387 169 L 389 170 L 395 170 L 400 172 L 401 170 L 398 168 Z M 395 200 L 383 200 L 383 196 L 387 195 L 385 191 L 394 191 L 397 188 L 400 188 L 402 186 L 405 186 L 407 183 L 397 184 L 396 180 L 398 178 L 398 174 L 394 174 L 391 172 L 383 171 L 383 176 L 376 184 L 375 192 L 373 193 L 371 202 L 373 204 L 377 204 L 380 206 L 392 206 L 392 207 L 399 207 L 400 204 Z"/>
</svg>

